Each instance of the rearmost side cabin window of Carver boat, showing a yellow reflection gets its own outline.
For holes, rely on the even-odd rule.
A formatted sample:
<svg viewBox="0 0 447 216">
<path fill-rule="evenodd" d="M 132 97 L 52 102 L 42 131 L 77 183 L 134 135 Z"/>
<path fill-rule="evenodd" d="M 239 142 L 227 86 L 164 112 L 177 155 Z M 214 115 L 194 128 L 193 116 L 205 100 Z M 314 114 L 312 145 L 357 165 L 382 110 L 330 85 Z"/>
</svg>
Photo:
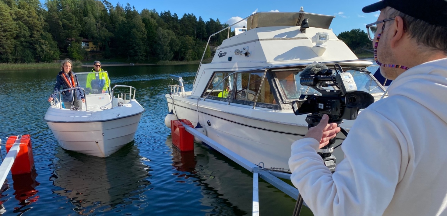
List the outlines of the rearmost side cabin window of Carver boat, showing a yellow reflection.
<svg viewBox="0 0 447 216">
<path fill-rule="evenodd" d="M 232 72 L 216 72 L 208 84 L 202 97 L 213 100 L 229 101 L 231 97 L 234 74 Z"/>
</svg>

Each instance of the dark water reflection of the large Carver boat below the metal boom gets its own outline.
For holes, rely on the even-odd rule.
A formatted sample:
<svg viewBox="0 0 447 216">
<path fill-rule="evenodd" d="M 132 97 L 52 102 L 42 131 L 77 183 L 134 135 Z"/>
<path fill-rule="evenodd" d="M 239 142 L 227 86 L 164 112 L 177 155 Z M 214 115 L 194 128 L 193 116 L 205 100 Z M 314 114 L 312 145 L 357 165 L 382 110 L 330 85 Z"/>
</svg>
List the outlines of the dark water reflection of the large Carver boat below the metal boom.
<svg viewBox="0 0 447 216">
<path fill-rule="evenodd" d="M 252 212 L 251 172 L 199 143 L 194 144 L 194 152 L 180 152 L 172 146 L 169 136 L 166 145 L 172 149 L 172 166 L 181 171 L 176 173 L 178 177 L 197 179 L 195 182 L 202 194 L 199 200 L 202 205 L 211 207 L 205 211 L 207 215 L 249 215 Z M 262 179 L 259 179 L 259 199 L 262 215 L 290 215 L 295 205 L 294 199 Z"/>
</svg>

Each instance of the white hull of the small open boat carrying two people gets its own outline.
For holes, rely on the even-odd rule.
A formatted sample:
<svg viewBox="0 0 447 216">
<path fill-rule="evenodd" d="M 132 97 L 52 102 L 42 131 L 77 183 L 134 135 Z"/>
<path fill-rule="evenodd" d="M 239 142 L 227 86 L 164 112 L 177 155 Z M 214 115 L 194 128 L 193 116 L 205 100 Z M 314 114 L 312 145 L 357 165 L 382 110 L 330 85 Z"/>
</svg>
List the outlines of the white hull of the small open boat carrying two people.
<svg viewBox="0 0 447 216">
<path fill-rule="evenodd" d="M 46 122 L 65 150 L 101 158 L 134 140 L 141 113 L 101 122 Z"/>
</svg>

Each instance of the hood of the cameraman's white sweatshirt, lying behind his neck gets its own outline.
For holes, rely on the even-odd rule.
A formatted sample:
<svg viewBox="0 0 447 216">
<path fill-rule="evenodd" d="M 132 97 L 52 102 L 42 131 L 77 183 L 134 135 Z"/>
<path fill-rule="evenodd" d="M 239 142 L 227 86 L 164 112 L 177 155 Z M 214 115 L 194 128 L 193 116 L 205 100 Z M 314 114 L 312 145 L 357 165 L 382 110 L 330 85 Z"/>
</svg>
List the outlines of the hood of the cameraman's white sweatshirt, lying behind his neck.
<svg viewBox="0 0 447 216">
<path fill-rule="evenodd" d="M 388 87 L 388 94 L 406 96 L 447 122 L 447 58 L 405 71 Z"/>
</svg>

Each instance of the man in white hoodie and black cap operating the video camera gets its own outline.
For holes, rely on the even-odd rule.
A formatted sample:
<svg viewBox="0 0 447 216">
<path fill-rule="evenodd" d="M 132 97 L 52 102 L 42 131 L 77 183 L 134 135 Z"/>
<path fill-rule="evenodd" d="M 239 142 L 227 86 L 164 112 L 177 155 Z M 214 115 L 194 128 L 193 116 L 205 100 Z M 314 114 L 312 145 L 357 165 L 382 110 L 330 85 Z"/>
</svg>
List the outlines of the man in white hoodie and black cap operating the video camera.
<svg viewBox="0 0 447 216">
<path fill-rule="evenodd" d="M 292 144 L 291 180 L 316 216 L 447 215 L 447 0 L 382 0 L 367 25 L 394 80 L 363 110 L 331 173 L 317 150 L 340 128 L 325 116 Z"/>
</svg>

